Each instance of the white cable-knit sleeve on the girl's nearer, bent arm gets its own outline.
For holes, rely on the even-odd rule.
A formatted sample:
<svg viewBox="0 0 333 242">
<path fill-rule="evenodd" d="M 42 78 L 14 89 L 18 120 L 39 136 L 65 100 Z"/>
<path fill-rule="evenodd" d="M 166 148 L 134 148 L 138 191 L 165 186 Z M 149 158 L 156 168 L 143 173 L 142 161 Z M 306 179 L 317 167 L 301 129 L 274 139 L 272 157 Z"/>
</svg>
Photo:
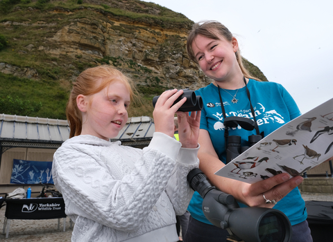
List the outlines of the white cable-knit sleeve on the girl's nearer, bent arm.
<svg viewBox="0 0 333 242">
<path fill-rule="evenodd" d="M 154 133 L 151 143 L 143 150 L 76 143 L 60 147 L 53 157 L 53 180 L 66 212 L 116 230 L 137 230 L 169 187 L 171 175 L 181 176 L 175 172 L 180 143 L 162 133 Z"/>
</svg>

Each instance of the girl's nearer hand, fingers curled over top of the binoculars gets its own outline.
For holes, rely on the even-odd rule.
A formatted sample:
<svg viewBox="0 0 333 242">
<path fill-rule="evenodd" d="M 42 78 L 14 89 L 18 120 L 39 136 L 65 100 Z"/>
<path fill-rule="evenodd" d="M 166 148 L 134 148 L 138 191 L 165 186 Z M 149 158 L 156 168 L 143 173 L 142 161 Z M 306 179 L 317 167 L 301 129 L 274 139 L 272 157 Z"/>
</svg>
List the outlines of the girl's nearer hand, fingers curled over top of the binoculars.
<svg viewBox="0 0 333 242">
<path fill-rule="evenodd" d="M 153 118 L 155 122 L 155 131 L 165 133 L 167 136 L 173 137 L 174 122 L 176 111 L 186 102 L 186 97 L 182 98 L 175 105 L 171 106 L 184 91 L 177 89 L 164 91 L 158 97 L 153 111 Z"/>
</svg>

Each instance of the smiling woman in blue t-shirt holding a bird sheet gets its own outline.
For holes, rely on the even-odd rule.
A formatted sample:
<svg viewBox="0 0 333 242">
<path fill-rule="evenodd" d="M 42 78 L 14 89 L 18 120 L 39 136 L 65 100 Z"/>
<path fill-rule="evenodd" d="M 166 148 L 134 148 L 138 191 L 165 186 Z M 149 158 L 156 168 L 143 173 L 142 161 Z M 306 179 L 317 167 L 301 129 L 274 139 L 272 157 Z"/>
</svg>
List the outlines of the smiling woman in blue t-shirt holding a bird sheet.
<svg viewBox="0 0 333 242">
<path fill-rule="evenodd" d="M 250 185 L 214 175 L 225 166 L 225 131 L 229 136 L 241 136 L 241 144 L 245 145 L 248 136 L 259 133 L 267 136 L 298 117 L 300 111 L 296 102 L 282 85 L 261 82 L 248 73 L 241 62 L 237 39 L 219 22 L 195 24 L 187 39 L 187 53 L 203 73 L 214 80 L 196 91 L 204 104 L 198 151 L 200 169 L 214 186 L 232 194 L 239 203 L 250 207 L 274 207 L 284 212 L 293 228 L 291 241 L 312 241 L 305 202 L 297 187 L 302 183 L 301 176 L 289 179 L 289 174 L 278 174 Z M 224 119 L 232 116 L 254 120 L 257 129 L 224 127 Z M 228 232 L 205 218 L 202 201 L 197 192 L 191 199 L 188 207 L 191 218 L 185 242 L 225 241 Z"/>
</svg>

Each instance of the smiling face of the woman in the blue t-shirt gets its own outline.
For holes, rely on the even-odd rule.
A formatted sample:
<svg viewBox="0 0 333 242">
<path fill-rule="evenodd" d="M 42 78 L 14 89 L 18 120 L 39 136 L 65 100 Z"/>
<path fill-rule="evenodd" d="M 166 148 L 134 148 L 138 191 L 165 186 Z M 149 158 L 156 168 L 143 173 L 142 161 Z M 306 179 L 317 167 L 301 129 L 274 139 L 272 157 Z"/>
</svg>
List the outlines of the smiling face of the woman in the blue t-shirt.
<svg viewBox="0 0 333 242">
<path fill-rule="evenodd" d="M 224 37 L 210 39 L 197 35 L 191 47 L 203 73 L 217 82 L 239 70 L 235 55 L 238 42 L 234 37 L 228 41 Z"/>
</svg>

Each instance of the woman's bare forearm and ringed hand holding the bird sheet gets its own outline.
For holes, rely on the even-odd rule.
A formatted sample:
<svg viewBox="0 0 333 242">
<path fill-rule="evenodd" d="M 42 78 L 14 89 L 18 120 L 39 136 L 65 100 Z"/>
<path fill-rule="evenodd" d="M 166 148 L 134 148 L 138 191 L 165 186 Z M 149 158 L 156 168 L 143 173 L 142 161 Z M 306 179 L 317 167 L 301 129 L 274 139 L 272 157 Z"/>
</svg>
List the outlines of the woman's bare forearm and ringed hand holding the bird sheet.
<svg viewBox="0 0 333 242">
<path fill-rule="evenodd" d="M 295 176 L 289 179 L 290 176 L 287 173 L 278 174 L 253 184 L 217 176 L 215 172 L 225 165 L 219 160 L 207 130 L 200 130 L 199 144 L 199 168 L 205 173 L 212 185 L 219 188 L 222 192 L 231 194 L 237 201 L 250 207 L 271 208 L 274 204 L 266 203 L 263 195 L 265 195 L 266 199 L 270 201 L 274 200 L 278 203 L 284 196 L 289 194 L 292 189 L 302 183 L 303 178 L 301 176 Z"/>
</svg>

